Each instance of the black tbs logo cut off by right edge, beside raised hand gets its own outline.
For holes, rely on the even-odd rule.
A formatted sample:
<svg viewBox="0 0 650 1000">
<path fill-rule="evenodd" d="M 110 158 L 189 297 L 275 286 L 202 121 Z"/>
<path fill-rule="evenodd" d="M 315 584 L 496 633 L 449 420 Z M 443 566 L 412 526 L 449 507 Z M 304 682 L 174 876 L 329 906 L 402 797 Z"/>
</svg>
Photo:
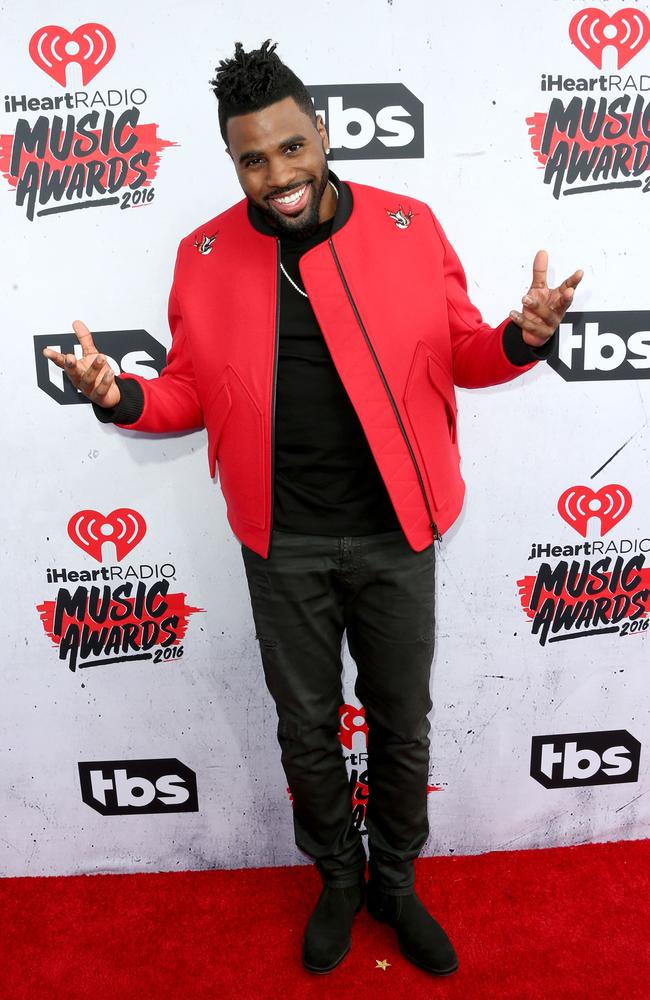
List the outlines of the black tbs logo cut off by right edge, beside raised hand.
<svg viewBox="0 0 650 1000">
<path fill-rule="evenodd" d="M 650 378 L 650 312 L 567 313 L 548 363 L 566 382 Z"/>
</svg>

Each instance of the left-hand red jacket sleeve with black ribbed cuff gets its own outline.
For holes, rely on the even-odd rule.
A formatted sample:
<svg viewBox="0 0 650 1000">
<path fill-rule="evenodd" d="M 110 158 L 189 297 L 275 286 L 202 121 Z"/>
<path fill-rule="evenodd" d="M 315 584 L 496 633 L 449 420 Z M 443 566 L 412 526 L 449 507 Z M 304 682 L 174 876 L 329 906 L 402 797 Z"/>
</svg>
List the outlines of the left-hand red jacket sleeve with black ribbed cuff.
<svg viewBox="0 0 650 1000">
<path fill-rule="evenodd" d="M 198 430 L 204 426 L 192 354 L 176 294 L 177 271 L 178 255 L 174 283 L 169 295 L 168 317 L 172 344 L 165 367 L 158 378 L 153 379 L 146 379 L 141 375 L 120 375 L 120 387 L 125 384 L 118 405 L 113 410 L 103 412 L 101 407 L 93 405 L 98 419 L 104 423 L 113 422 L 118 427 L 149 433 Z"/>
</svg>

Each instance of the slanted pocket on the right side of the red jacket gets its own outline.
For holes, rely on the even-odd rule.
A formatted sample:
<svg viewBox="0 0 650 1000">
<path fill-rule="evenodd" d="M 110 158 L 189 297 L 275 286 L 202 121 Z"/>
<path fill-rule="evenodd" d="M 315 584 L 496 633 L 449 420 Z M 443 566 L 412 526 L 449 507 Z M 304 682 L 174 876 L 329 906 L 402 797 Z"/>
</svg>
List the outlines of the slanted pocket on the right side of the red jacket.
<svg viewBox="0 0 650 1000">
<path fill-rule="evenodd" d="M 424 341 L 415 349 L 403 403 L 440 510 L 460 484 L 456 397 L 451 370 Z"/>
</svg>

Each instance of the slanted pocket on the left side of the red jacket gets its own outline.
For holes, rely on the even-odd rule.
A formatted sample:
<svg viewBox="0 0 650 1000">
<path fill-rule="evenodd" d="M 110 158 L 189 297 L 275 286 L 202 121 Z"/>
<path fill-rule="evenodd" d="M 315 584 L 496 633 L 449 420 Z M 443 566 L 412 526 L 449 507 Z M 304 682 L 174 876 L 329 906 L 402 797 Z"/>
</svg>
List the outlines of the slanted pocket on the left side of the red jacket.
<svg viewBox="0 0 650 1000">
<path fill-rule="evenodd" d="M 211 474 L 219 482 L 231 518 L 257 528 L 266 524 L 264 420 L 256 400 L 234 368 L 209 406 Z"/>
</svg>

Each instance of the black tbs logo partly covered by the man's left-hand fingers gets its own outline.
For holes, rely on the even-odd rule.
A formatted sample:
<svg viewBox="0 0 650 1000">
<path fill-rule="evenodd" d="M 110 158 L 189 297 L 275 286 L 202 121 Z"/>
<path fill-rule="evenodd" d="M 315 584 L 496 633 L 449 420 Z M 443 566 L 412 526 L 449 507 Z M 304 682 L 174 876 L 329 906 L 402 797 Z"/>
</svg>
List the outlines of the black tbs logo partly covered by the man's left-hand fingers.
<svg viewBox="0 0 650 1000">
<path fill-rule="evenodd" d="M 98 350 L 116 375 L 141 375 L 142 378 L 156 378 L 160 375 L 167 352 L 162 344 L 146 330 L 104 330 L 93 333 Z M 88 403 L 69 378 L 48 358 L 43 357 L 43 348 L 51 347 L 61 354 L 74 354 L 80 358 L 81 344 L 74 333 L 44 334 L 34 337 L 36 357 L 36 380 L 50 399 L 66 406 L 68 403 Z"/>
</svg>

